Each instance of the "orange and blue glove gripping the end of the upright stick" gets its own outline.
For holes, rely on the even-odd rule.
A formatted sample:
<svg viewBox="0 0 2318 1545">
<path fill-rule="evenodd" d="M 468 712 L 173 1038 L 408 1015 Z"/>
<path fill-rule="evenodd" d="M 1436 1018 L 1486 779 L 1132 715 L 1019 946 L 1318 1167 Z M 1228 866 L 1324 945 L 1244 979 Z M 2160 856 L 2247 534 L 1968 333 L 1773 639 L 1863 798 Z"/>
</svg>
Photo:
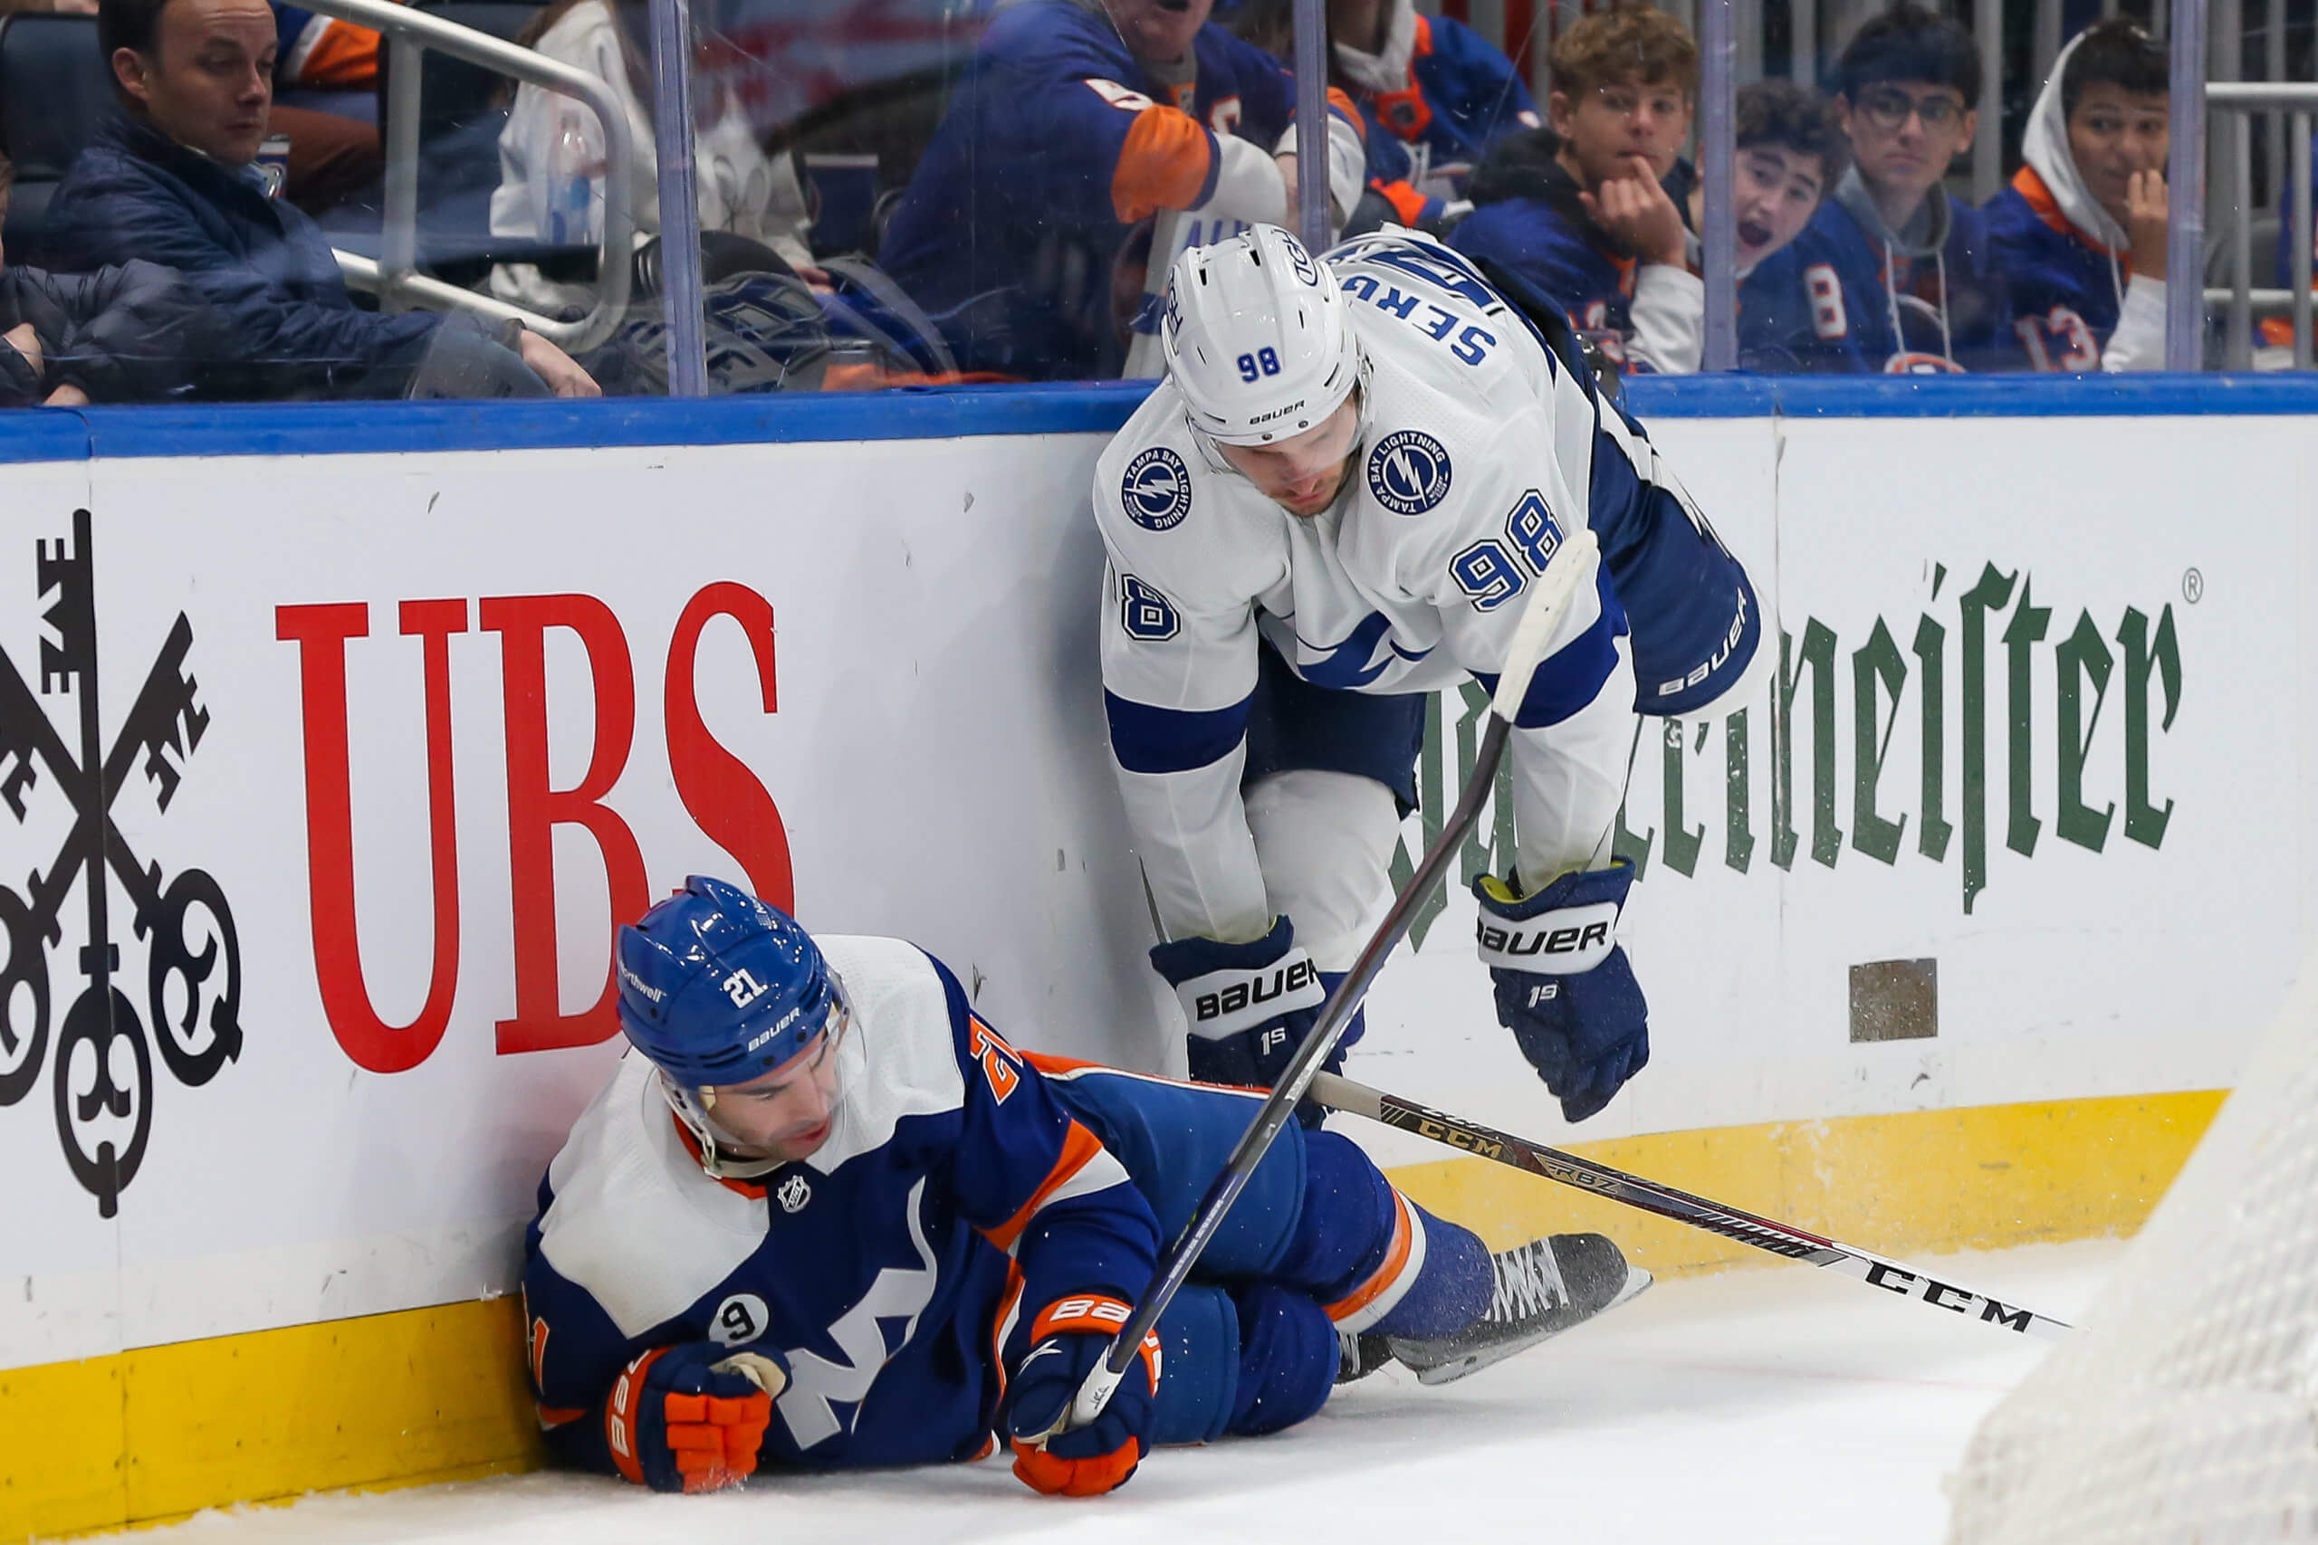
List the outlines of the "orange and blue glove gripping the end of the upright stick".
<svg viewBox="0 0 2318 1545">
<path fill-rule="evenodd" d="M 1110 1350 L 1110 1339 L 1134 1313 L 1115 1297 L 1083 1295 L 1048 1304 L 1032 1320 L 1032 1348 L 1015 1364 L 999 1418 L 1015 1450 L 1015 1476 L 1048 1496 L 1101 1496 L 1127 1482 L 1152 1445 L 1152 1404 L 1159 1397 L 1159 1332 L 1143 1337 L 1140 1367 L 1110 1394 L 1087 1427 L 1052 1431 L 1078 1397 L 1078 1385 Z"/>
</svg>

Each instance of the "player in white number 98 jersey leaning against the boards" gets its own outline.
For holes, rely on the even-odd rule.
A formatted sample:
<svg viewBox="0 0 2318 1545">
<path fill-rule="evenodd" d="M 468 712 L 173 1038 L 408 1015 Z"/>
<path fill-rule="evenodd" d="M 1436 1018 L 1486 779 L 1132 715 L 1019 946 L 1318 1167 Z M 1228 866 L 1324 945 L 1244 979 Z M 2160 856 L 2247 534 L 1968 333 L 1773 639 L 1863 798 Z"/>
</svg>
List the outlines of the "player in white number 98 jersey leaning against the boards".
<svg viewBox="0 0 2318 1545">
<path fill-rule="evenodd" d="M 1168 375 L 1094 505 L 1110 746 L 1198 1079 L 1270 1084 L 1303 1042 L 1388 901 L 1419 695 L 1495 690 L 1579 526 L 1602 558 L 1514 727 L 1518 857 L 1474 885 L 1479 947 L 1569 1121 L 1650 1056 L 1609 850 L 1634 711 L 1725 695 L 1759 616 L 1560 313 L 1509 292 L 1391 227 L 1324 259 L 1256 227 L 1171 273 Z"/>
</svg>

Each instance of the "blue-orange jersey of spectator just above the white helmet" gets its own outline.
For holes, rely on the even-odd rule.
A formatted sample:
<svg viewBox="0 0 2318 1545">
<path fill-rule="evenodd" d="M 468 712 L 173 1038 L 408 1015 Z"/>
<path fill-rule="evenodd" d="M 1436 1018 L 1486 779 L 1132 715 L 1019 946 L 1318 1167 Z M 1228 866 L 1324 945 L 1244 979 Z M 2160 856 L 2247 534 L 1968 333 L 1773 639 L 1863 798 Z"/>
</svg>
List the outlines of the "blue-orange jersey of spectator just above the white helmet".
<svg viewBox="0 0 2318 1545">
<path fill-rule="evenodd" d="M 1400 90 L 1354 93 L 1368 120 L 1368 185 L 1402 225 L 1433 225 L 1442 202 L 1412 174 L 1423 146 L 1428 167 L 1474 164 L 1511 130 L 1539 125 L 1537 102 L 1514 63 L 1453 16 L 1416 16 L 1409 79 Z"/>
</svg>

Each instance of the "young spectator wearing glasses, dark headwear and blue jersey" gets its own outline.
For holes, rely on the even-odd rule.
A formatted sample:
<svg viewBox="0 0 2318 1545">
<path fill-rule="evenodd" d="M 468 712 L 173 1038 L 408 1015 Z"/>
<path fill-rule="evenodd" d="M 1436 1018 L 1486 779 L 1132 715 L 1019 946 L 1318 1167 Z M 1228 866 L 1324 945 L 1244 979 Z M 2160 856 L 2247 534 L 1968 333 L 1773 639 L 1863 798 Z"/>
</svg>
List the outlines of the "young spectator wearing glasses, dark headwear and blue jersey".
<svg viewBox="0 0 2318 1545">
<path fill-rule="evenodd" d="M 1852 169 L 1796 243 L 1840 287 L 1822 359 L 1868 371 L 2007 371 L 2024 361 L 1987 220 L 1940 185 L 1980 116 L 1973 35 L 1915 0 L 1873 16 L 1836 60 Z"/>
</svg>

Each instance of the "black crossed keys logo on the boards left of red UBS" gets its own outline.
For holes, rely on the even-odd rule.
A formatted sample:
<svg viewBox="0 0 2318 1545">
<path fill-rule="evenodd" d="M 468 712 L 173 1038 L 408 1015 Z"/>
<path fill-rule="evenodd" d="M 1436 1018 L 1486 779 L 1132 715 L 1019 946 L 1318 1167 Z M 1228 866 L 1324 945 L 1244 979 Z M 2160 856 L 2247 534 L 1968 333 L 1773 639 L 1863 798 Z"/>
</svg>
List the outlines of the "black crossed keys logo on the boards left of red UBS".
<svg viewBox="0 0 2318 1545">
<path fill-rule="evenodd" d="M 160 658 L 111 746 L 97 718 L 97 605 L 90 568 L 90 519 L 72 512 L 72 540 L 37 542 L 37 591 L 53 637 L 39 639 L 39 695 L 0 649 L 0 801 L 23 825 L 28 795 L 42 769 L 72 804 L 72 832 L 46 871 L 35 869 L 25 894 L 0 887 L 0 1107 L 14 1105 L 39 1082 L 49 1052 L 49 952 L 63 938 L 63 910 L 79 885 L 88 908 L 88 943 L 72 959 L 86 977 L 56 1035 L 56 1135 L 72 1177 L 97 1198 L 97 1216 L 121 1209 L 121 1193 L 144 1163 L 153 1133 L 153 1047 L 169 1072 L 190 1086 L 206 1084 L 241 1054 L 241 943 L 225 892 L 202 869 L 165 883 L 160 864 L 130 852 L 114 825 L 114 797 L 132 771 L 153 783 L 167 813 L 183 778 L 183 762 L 209 732 L 209 711 L 185 674 L 192 623 L 178 612 Z M 79 706 L 79 755 L 42 706 L 42 697 L 72 695 Z M 144 940 L 144 1005 L 151 1045 L 137 1005 L 121 989 L 121 945 L 109 913 L 111 880 L 132 901 L 130 929 Z M 190 924 L 199 913 L 202 927 Z M 195 940 L 199 938 L 199 945 Z M 169 1005 L 178 1003 L 172 1015 Z"/>
</svg>

